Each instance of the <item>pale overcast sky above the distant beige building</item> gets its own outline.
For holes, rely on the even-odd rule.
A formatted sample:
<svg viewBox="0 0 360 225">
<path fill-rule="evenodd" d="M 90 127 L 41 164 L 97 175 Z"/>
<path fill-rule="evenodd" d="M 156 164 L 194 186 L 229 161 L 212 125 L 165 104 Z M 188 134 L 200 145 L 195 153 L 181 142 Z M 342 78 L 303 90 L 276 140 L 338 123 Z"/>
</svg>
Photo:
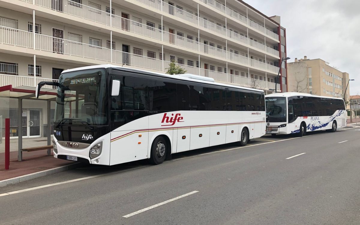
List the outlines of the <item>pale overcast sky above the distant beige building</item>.
<svg viewBox="0 0 360 225">
<path fill-rule="evenodd" d="M 359 0 L 244 0 L 286 28 L 287 56 L 323 59 L 349 73 L 350 95 L 360 94 Z M 345 84 L 344 84 L 345 85 Z"/>
</svg>

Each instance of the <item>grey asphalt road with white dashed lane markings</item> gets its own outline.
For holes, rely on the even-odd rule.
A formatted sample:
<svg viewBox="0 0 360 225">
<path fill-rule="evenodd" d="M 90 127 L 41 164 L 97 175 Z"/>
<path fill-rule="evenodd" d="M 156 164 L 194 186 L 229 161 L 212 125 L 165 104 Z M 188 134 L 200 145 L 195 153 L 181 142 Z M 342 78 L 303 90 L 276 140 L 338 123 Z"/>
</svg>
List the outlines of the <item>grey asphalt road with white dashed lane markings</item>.
<svg viewBox="0 0 360 225">
<path fill-rule="evenodd" d="M 359 137 L 264 136 L 157 166 L 87 165 L 0 188 L 0 224 L 360 224 Z"/>
</svg>

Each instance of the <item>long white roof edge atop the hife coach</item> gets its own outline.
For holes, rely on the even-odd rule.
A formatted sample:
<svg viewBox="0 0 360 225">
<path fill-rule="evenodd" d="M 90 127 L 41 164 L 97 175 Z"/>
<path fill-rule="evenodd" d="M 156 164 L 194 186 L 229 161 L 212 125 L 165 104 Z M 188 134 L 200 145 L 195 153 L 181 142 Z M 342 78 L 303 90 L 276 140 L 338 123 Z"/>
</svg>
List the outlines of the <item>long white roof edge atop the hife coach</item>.
<svg viewBox="0 0 360 225">
<path fill-rule="evenodd" d="M 253 89 L 253 88 L 250 88 L 250 87 L 222 84 L 222 83 L 211 82 L 211 81 L 206 81 L 206 80 L 200 80 L 200 79 L 195 79 L 195 78 L 182 77 L 182 76 L 177 76 L 177 75 L 169 75 L 169 74 L 165 74 L 165 73 L 150 72 L 150 71 L 146 71 L 146 70 L 142 70 L 142 69 L 133 69 L 133 68 L 129 68 L 129 67 L 114 66 L 114 65 L 111 65 L 111 64 L 77 67 L 77 68 L 73 68 L 73 69 L 64 70 L 62 73 L 80 71 L 80 70 L 85 70 L 85 69 L 97 69 L 97 68 L 112 68 L 112 69 L 118 69 L 118 70 L 126 70 L 126 71 L 129 71 L 129 72 L 141 72 L 141 73 L 146 73 L 147 75 L 168 77 L 168 78 L 172 78 L 172 79 L 176 79 L 176 80 L 195 81 L 195 82 L 198 82 L 198 83 L 213 84 L 213 85 L 219 85 L 219 86 L 225 86 L 225 87 L 234 87 L 234 88 L 238 88 L 238 89 L 252 90 L 252 91 L 258 91 L 258 92 L 263 92 L 264 93 L 264 90 Z M 197 75 L 195 75 L 195 76 L 197 76 Z"/>
</svg>

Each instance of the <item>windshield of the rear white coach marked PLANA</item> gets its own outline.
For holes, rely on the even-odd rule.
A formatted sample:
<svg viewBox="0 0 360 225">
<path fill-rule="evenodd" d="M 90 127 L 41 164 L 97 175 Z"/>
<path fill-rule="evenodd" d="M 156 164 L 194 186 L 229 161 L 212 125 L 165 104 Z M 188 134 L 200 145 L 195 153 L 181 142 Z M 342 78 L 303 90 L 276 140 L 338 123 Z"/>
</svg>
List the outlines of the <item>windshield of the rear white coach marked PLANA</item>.
<svg viewBox="0 0 360 225">
<path fill-rule="evenodd" d="M 269 97 L 266 102 L 266 122 L 286 122 L 286 98 Z"/>
</svg>

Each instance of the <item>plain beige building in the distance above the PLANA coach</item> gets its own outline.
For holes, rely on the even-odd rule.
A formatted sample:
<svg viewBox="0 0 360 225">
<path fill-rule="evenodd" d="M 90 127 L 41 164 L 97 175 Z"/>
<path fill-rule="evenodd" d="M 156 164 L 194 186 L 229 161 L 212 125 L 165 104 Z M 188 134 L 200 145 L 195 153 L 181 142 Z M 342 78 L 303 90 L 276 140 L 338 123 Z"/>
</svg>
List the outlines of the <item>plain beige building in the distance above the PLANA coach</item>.
<svg viewBox="0 0 360 225">
<path fill-rule="evenodd" d="M 329 66 L 322 59 L 303 59 L 288 63 L 288 90 L 322 96 L 349 98 L 349 74 Z"/>
</svg>

